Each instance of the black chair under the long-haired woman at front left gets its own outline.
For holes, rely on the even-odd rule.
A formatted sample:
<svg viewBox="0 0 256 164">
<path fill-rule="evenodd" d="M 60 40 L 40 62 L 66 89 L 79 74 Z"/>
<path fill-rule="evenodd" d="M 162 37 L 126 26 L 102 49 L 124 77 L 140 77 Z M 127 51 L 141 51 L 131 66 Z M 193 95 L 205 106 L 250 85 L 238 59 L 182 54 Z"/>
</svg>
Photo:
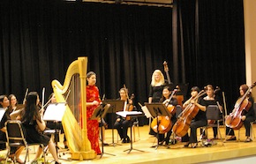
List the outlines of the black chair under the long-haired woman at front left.
<svg viewBox="0 0 256 164">
<path fill-rule="evenodd" d="M 6 127 L 6 138 L 7 138 L 7 156 L 10 155 L 11 147 L 19 147 L 19 146 L 25 146 L 26 149 L 26 156 L 24 163 L 26 163 L 26 159 L 28 158 L 29 161 L 29 147 L 30 145 L 41 145 L 42 150 L 44 150 L 44 146 L 41 143 L 33 143 L 28 144 L 26 142 L 26 138 L 24 136 L 24 132 L 22 129 L 22 124 L 19 120 L 8 120 L 5 123 Z M 45 153 L 43 151 L 43 160 L 45 160 Z M 7 162 L 8 158 L 6 158 Z M 16 159 L 14 158 L 14 163 L 16 163 Z"/>
</svg>

